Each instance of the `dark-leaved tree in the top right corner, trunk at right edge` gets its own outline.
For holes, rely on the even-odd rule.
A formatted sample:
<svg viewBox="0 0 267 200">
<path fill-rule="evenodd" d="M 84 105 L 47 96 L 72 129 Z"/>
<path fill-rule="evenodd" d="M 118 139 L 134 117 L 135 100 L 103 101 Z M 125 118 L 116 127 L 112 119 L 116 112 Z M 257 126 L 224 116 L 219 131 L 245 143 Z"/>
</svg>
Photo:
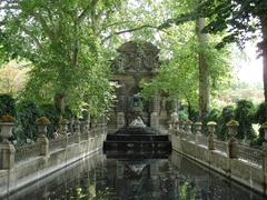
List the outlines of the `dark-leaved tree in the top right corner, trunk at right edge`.
<svg viewBox="0 0 267 200">
<path fill-rule="evenodd" d="M 264 93 L 267 102 L 267 1 L 207 0 L 200 9 L 210 19 L 205 31 L 227 32 L 219 47 L 228 42 L 243 46 L 246 40 L 261 38 L 258 48 L 264 58 Z"/>
</svg>

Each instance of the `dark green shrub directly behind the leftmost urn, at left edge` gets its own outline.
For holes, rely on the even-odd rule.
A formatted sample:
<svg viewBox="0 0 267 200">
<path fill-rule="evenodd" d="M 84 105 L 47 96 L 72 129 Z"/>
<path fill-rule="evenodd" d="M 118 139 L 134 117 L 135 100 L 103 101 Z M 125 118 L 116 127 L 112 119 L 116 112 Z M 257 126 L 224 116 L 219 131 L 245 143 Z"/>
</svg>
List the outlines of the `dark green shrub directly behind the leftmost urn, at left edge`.
<svg viewBox="0 0 267 200">
<path fill-rule="evenodd" d="M 16 100 L 9 94 L 0 94 L 0 116 L 16 116 Z"/>
</svg>

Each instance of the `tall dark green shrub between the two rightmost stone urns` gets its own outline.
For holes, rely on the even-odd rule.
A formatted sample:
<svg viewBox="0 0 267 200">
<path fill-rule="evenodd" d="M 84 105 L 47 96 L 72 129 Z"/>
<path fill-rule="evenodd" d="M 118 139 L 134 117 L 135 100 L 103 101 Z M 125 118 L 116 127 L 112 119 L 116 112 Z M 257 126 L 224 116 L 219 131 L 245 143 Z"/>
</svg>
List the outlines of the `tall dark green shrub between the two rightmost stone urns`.
<svg viewBox="0 0 267 200">
<path fill-rule="evenodd" d="M 235 110 L 235 119 L 239 122 L 237 138 L 253 140 L 256 133 L 253 129 L 255 108 L 251 101 L 239 100 Z"/>
</svg>

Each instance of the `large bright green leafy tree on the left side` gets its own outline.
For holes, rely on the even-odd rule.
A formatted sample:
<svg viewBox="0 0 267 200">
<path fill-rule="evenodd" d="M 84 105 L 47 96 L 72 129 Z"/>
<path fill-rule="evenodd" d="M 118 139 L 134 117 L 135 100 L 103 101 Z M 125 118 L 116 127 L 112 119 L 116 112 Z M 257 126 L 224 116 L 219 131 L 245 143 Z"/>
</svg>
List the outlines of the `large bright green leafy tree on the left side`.
<svg viewBox="0 0 267 200">
<path fill-rule="evenodd" d="M 119 0 L 1 1 L 6 53 L 33 66 L 26 96 L 40 103 L 53 99 L 62 113 L 70 102 L 76 109 L 87 102 L 97 108 L 93 111 L 103 111 L 111 86 L 101 31 L 118 4 Z"/>
</svg>

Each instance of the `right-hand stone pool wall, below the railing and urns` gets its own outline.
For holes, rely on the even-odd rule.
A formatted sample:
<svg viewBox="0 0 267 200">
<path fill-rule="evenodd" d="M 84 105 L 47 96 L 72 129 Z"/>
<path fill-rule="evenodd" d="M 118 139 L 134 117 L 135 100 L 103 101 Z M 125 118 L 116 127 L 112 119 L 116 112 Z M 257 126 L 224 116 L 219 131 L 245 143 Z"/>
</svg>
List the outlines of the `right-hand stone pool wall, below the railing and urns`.
<svg viewBox="0 0 267 200">
<path fill-rule="evenodd" d="M 190 133 L 190 137 L 185 137 L 185 134 L 187 133 L 184 130 L 170 130 L 170 140 L 174 150 L 229 179 L 267 194 L 267 153 L 265 148 L 264 150 L 254 150 L 245 147 L 246 150 L 240 151 L 243 154 L 237 156 L 237 158 L 230 158 L 228 152 L 229 147 L 227 144 L 227 148 L 209 150 L 208 144 L 200 144 L 194 140 L 189 140 L 189 138 L 192 138 L 191 136 L 195 137 L 196 134 Z M 207 140 L 205 136 L 202 136 L 202 138 Z M 216 143 L 217 141 L 215 144 Z M 224 142 L 218 141 L 218 143 Z M 238 148 L 243 149 L 241 146 Z M 248 152 L 249 154 L 246 157 L 245 154 Z M 259 153 L 260 157 L 258 157 Z M 258 159 L 255 159 L 254 156 Z"/>
</svg>

